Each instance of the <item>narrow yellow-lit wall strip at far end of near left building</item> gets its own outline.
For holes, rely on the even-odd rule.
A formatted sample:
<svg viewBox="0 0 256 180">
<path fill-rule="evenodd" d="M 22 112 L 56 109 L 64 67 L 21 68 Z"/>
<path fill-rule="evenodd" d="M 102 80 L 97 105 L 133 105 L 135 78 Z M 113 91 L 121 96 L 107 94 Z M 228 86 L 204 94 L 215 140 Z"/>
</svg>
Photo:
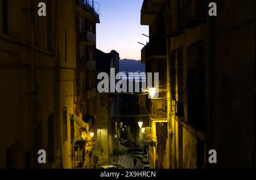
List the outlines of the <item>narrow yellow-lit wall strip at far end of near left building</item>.
<svg viewBox="0 0 256 180">
<path fill-rule="evenodd" d="M 61 146 L 63 168 L 71 168 L 71 123 L 69 114 L 74 114 L 75 68 L 76 68 L 76 1 L 59 0 L 59 78 L 60 78 L 60 135 L 63 143 L 63 108 L 68 109 L 68 140 Z M 67 40 L 65 38 L 67 33 Z M 67 41 L 67 42 L 65 42 Z M 67 49 L 65 47 L 67 44 Z M 65 52 L 67 51 L 67 52 Z M 65 57 L 67 55 L 67 57 Z M 69 97 L 67 97 L 69 96 Z M 76 134 L 75 134 L 76 135 Z"/>
</svg>

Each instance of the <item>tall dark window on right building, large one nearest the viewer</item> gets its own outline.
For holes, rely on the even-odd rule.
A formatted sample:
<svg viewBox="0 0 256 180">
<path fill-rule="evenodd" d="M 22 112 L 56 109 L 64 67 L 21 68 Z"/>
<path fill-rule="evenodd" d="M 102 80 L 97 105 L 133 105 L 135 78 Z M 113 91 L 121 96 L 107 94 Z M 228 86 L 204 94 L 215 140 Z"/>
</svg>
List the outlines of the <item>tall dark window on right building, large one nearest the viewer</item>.
<svg viewBox="0 0 256 180">
<path fill-rule="evenodd" d="M 204 44 L 189 46 L 187 51 L 188 123 L 197 130 L 205 129 Z"/>
</svg>

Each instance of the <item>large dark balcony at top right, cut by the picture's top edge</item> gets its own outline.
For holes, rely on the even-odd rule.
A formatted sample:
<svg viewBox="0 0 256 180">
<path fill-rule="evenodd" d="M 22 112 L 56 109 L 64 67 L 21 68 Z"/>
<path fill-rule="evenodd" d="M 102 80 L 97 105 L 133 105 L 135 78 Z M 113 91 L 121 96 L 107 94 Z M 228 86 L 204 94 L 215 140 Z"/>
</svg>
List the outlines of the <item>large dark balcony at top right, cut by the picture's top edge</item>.
<svg viewBox="0 0 256 180">
<path fill-rule="evenodd" d="M 178 24 L 180 28 L 192 28 L 204 22 L 207 17 L 207 1 L 178 1 Z"/>
</svg>

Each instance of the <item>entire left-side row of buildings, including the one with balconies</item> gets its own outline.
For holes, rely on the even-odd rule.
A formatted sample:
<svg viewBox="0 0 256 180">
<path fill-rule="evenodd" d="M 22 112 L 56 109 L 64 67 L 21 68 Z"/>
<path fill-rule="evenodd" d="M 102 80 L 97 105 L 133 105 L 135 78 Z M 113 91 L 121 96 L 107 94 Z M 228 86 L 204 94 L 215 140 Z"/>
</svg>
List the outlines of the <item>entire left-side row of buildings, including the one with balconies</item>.
<svg viewBox="0 0 256 180">
<path fill-rule="evenodd" d="M 0 168 L 92 168 L 96 4 L 0 1 Z"/>
</svg>

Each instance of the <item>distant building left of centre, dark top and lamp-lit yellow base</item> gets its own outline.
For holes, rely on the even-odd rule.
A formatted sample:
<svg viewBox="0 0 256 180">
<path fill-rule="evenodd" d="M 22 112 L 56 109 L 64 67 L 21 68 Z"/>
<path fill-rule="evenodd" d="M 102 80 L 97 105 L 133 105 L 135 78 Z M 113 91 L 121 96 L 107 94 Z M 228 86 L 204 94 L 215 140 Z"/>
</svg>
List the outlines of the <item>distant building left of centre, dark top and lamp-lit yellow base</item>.
<svg viewBox="0 0 256 180">
<path fill-rule="evenodd" d="M 119 59 L 119 53 L 115 50 L 104 53 L 97 49 L 97 74 L 105 72 L 110 78 L 110 68 L 115 68 L 115 73 L 118 73 Z M 99 157 L 99 165 L 106 165 L 112 163 L 113 151 L 118 148 L 118 138 L 115 135 L 118 134 L 119 127 L 119 95 L 97 91 L 96 97 L 98 148 L 95 149 L 95 154 Z"/>
</svg>

